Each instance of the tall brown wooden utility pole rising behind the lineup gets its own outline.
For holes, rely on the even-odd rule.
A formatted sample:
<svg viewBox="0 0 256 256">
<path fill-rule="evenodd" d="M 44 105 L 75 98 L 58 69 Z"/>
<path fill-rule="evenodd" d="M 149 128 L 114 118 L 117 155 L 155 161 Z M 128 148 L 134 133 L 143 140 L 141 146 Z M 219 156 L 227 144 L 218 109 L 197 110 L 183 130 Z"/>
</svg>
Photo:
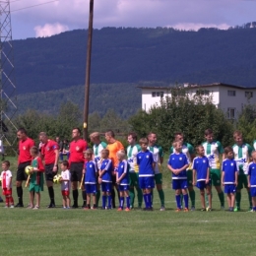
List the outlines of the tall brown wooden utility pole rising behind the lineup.
<svg viewBox="0 0 256 256">
<path fill-rule="evenodd" d="M 90 78 L 91 78 L 91 58 L 94 26 L 94 0 L 90 0 L 90 15 L 87 44 L 87 67 L 86 67 L 86 85 L 85 85 L 85 108 L 84 108 L 84 139 L 88 140 L 88 115 L 90 98 Z"/>
</svg>

